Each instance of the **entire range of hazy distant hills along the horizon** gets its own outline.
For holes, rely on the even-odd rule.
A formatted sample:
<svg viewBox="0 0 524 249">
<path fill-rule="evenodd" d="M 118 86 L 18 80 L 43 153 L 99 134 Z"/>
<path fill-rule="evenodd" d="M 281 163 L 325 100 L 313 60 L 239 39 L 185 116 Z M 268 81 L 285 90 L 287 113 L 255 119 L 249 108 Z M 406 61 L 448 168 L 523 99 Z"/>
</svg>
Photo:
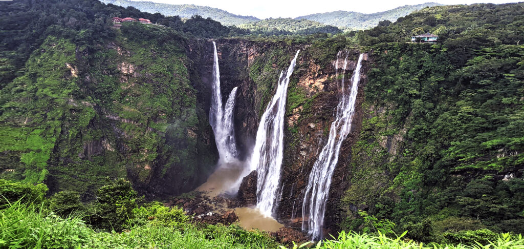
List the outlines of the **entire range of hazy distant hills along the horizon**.
<svg viewBox="0 0 524 249">
<path fill-rule="evenodd" d="M 347 12 L 343 10 L 317 13 L 297 18 L 269 18 L 260 20 L 254 16 L 239 16 L 229 13 L 225 10 L 198 6 L 193 4 L 161 4 L 154 2 L 130 1 L 130 0 L 100 0 L 106 4 L 120 6 L 133 6 L 143 12 L 161 13 L 166 16 L 180 16 L 181 18 L 190 18 L 194 15 L 200 15 L 204 18 L 211 17 L 213 20 L 220 21 L 226 26 L 235 25 L 241 28 L 247 28 L 259 34 L 312 34 L 312 33 L 337 33 L 339 30 L 334 29 L 368 29 L 377 26 L 381 20 L 396 21 L 397 18 L 407 16 L 415 10 L 422 9 L 426 6 L 441 5 L 438 3 L 425 3 L 418 5 L 406 5 L 390 9 L 385 12 L 364 14 L 358 12 Z M 304 21 L 303 19 L 307 20 Z"/>
</svg>

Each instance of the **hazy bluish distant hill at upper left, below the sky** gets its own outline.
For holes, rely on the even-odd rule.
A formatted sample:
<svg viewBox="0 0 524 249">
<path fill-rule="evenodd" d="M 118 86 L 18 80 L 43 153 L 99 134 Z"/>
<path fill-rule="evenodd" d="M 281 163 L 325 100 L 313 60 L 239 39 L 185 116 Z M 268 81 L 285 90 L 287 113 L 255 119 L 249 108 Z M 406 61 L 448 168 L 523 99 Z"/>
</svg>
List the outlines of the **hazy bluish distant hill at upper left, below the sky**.
<svg viewBox="0 0 524 249">
<path fill-rule="evenodd" d="M 197 6 L 193 4 L 160 4 L 153 2 L 139 2 L 128 0 L 100 0 L 105 4 L 114 4 L 120 6 L 133 6 L 143 12 L 161 13 L 166 16 L 180 16 L 181 18 L 190 18 L 193 15 L 200 15 L 204 18 L 211 17 L 213 20 L 220 21 L 223 25 L 240 25 L 252 21 L 260 20 L 254 16 L 239 16 L 231 14 L 225 10 L 211 8 L 206 6 Z"/>
</svg>

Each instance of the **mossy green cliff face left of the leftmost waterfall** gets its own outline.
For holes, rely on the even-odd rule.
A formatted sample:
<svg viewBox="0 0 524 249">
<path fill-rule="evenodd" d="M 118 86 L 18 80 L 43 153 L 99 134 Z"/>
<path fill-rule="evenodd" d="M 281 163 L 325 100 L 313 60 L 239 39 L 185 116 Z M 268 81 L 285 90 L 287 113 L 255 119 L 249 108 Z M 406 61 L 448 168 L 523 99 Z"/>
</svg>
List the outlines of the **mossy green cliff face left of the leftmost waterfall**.
<svg viewBox="0 0 524 249">
<path fill-rule="evenodd" d="M 106 177 L 158 197 L 211 174 L 217 153 L 200 91 L 202 53 L 161 27 L 125 28 L 94 48 L 48 37 L 2 89 L 1 156 L 10 159 L 2 178 L 90 199 Z"/>
</svg>

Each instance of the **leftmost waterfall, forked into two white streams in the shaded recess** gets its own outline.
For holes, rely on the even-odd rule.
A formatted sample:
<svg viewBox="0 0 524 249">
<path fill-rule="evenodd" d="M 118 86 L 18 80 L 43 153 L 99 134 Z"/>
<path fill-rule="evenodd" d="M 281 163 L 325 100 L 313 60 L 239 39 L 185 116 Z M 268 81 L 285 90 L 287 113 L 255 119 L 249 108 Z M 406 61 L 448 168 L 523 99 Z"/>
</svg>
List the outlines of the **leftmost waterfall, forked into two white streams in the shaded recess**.
<svg viewBox="0 0 524 249">
<path fill-rule="evenodd" d="M 219 151 L 219 163 L 230 163 L 237 156 L 235 131 L 233 125 L 233 109 L 238 87 L 233 88 L 227 98 L 225 107 L 222 107 L 222 94 L 220 92 L 219 56 L 216 44 L 213 41 L 213 83 L 211 84 L 211 108 L 209 110 L 209 123 L 215 134 L 216 148 Z"/>
</svg>

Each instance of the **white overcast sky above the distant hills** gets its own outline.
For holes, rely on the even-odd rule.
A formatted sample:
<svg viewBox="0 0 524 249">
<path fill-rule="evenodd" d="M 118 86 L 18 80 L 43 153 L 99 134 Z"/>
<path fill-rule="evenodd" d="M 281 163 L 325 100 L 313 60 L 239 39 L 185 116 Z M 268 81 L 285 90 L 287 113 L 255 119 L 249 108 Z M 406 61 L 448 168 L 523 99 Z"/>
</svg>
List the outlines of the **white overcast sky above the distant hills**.
<svg viewBox="0 0 524 249">
<path fill-rule="evenodd" d="M 136 1 L 136 0 L 135 0 Z M 138 0 L 166 4 L 194 4 L 224 9 L 227 12 L 255 16 L 261 19 L 277 17 L 298 17 L 314 13 L 332 12 L 335 10 L 346 10 L 362 13 L 383 12 L 388 9 L 404 5 L 423 4 L 436 2 L 439 4 L 473 4 L 473 3 L 511 3 L 519 1 L 504 0 L 439 0 L 439 1 L 417 1 L 417 0 Z"/>
</svg>

